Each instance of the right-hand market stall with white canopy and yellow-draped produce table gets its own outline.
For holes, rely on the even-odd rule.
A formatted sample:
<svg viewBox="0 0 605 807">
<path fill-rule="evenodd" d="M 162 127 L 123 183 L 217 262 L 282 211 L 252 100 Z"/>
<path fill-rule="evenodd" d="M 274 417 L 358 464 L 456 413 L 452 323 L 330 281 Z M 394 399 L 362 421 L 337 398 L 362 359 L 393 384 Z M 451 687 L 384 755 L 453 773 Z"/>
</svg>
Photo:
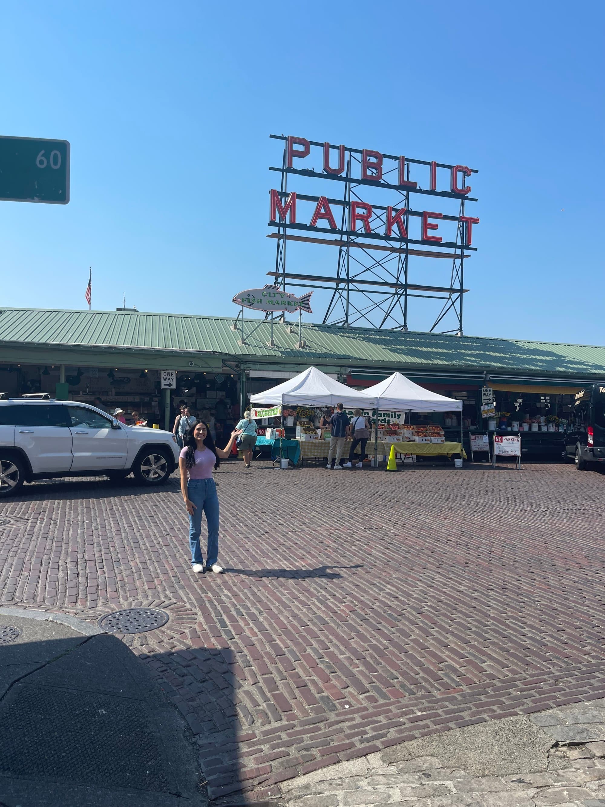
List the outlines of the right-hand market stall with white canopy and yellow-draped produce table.
<svg viewBox="0 0 605 807">
<path fill-rule="evenodd" d="M 374 458 L 378 458 L 378 437 L 394 445 L 397 454 L 417 456 L 417 455 L 445 455 L 451 457 L 453 454 L 460 454 L 465 457 L 462 448 L 462 420 L 460 417 L 461 433 L 460 442 L 445 441 L 444 431 L 440 426 L 432 424 L 416 424 L 409 422 L 390 424 L 390 428 L 382 429 L 378 423 L 378 412 L 380 410 L 391 410 L 392 412 L 462 412 L 462 402 L 453 398 L 446 398 L 420 387 L 401 373 L 393 373 L 389 378 L 385 378 L 373 387 L 361 393 L 365 397 L 365 406 L 373 408 L 376 412 L 374 418 L 374 428 L 370 440 L 374 444 Z M 376 462 L 378 464 L 378 461 Z"/>
</svg>

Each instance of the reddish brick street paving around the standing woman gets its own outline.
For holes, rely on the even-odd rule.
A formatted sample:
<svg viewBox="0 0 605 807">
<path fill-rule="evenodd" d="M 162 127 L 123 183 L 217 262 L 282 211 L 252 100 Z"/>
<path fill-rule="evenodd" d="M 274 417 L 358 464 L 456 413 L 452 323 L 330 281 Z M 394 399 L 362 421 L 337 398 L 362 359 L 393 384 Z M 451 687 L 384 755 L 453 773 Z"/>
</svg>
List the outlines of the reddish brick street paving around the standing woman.
<svg viewBox="0 0 605 807">
<path fill-rule="evenodd" d="M 177 479 L 0 504 L 0 603 L 169 612 L 127 641 L 198 735 L 212 798 L 605 696 L 605 476 L 238 462 L 217 479 L 223 576 L 190 571 Z"/>
</svg>

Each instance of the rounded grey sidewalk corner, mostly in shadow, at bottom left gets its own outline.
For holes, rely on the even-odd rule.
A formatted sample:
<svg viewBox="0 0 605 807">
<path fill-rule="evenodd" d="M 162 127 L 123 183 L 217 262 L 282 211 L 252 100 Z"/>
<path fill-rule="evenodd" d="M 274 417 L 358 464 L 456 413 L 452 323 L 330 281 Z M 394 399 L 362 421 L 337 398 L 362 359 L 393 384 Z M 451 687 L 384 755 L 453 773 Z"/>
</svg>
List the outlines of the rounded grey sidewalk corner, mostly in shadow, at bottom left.
<svg viewBox="0 0 605 807">
<path fill-rule="evenodd" d="M 0 621 L 22 631 L 0 651 L 3 805 L 207 804 L 192 733 L 119 638 Z"/>
</svg>

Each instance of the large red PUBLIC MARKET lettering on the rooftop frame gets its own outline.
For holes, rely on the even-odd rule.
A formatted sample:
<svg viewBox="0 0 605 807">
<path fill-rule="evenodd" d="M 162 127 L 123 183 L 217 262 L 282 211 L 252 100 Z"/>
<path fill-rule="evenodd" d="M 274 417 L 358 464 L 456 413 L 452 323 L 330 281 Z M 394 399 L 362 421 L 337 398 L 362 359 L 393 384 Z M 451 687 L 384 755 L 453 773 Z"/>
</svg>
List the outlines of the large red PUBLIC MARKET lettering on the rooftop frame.
<svg viewBox="0 0 605 807">
<path fill-rule="evenodd" d="M 272 137 L 276 137 L 273 136 Z M 350 182 L 353 185 L 380 187 L 396 190 L 401 194 L 429 194 L 447 199 L 471 199 L 472 187 L 467 184 L 471 174 L 476 173 L 466 165 L 444 165 L 436 161 L 414 160 L 402 155 L 382 154 L 369 148 L 345 148 L 344 145 L 318 143 L 304 137 L 288 136 L 278 138 L 286 140 L 285 165 L 282 169 L 287 174 L 299 174 L 306 177 L 333 179 Z M 311 155 L 313 157 L 303 163 Z M 315 171 L 306 166 L 318 164 L 318 148 L 321 149 L 323 171 Z M 346 155 L 349 155 L 347 161 Z M 352 156 L 356 155 L 353 159 Z M 347 168 L 348 162 L 348 168 Z M 411 165 L 417 180 L 411 179 Z M 353 167 L 358 175 L 353 177 Z M 439 171 L 438 171 L 439 169 Z M 438 180 L 443 177 L 444 169 L 449 174 L 449 189 L 439 188 Z M 345 174 L 346 171 L 346 174 Z M 422 186 L 420 186 L 422 182 Z M 297 219 L 297 202 L 315 203 L 315 208 L 308 224 Z M 342 207 L 347 208 L 348 215 L 342 215 Z M 340 210 L 339 210 L 340 208 Z M 340 228 L 336 224 L 336 216 L 340 215 L 344 224 Z M 419 237 L 408 234 L 410 218 L 419 219 L 419 228 L 415 228 Z M 346 221 L 345 221 L 346 218 Z M 440 232 L 440 220 L 453 221 L 460 229 L 461 244 L 465 248 L 473 243 L 473 225 L 479 224 L 475 216 L 444 215 L 439 211 L 413 210 L 411 207 L 394 207 L 370 204 L 360 199 L 350 202 L 342 199 L 328 199 L 327 196 L 309 196 L 296 191 L 282 191 L 272 188 L 269 191 L 269 226 L 294 228 L 311 232 L 332 232 L 342 236 L 357 235 L 379 240 L 395 240 L 405 243 L 456 246 L 456 240 L 444 240 Z M 419 232 L 418 232 L 419 230 Z M 460 242 L 458 242 L 460 245 Z"/>
</svg>

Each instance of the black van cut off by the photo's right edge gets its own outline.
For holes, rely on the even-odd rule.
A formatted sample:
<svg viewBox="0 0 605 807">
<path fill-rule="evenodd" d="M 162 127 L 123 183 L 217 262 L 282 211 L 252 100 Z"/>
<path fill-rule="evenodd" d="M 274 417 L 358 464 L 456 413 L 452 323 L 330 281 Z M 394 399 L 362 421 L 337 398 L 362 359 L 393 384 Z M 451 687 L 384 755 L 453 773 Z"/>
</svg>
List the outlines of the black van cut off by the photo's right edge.
<svg viewBox="0 0 605 807">
<path fill-rule="evenodd" d="M 605 462 L 605 387 L 593 384 L 578 392 L 565 433 L 565 457 L 578 470 Z"/>
</svg>

